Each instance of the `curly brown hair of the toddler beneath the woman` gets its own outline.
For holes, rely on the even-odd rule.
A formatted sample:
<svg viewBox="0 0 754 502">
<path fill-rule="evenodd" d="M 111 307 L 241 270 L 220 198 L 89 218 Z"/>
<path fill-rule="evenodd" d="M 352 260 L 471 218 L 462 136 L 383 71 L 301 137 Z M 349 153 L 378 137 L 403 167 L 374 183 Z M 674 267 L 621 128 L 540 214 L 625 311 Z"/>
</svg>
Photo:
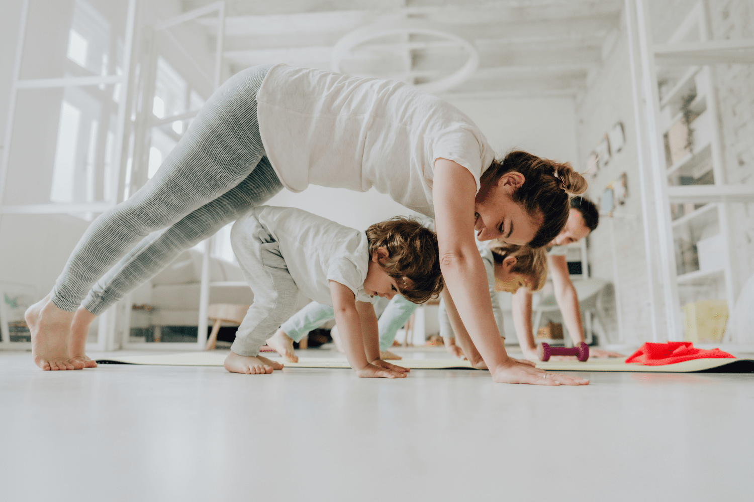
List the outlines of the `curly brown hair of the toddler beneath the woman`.
<svg viewBox="0 0 754 502">
<path fill-rule="evenodd" d="M 412 218 L 397 216 L 366 229 L 369 257 L 384 246 L 388 257 L 380 266 L 397 280 L 399 293 L 413 303 L 425 303 L 440 296 L 443 275 L 437 234 Z"/>
</svg>

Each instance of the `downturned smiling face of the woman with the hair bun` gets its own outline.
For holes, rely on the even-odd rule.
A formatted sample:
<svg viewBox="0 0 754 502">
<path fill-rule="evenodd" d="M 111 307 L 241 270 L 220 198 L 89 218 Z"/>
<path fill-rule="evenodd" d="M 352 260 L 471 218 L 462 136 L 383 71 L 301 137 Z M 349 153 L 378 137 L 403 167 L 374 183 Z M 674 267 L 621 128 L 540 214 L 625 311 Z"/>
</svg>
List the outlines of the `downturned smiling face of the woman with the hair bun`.
<svg viewBox="0 0 754 502">
<path fill-rule="evenodd" d="M 507 172 L 497 183 L 483 187 L 474 201 L 474 231 L 477 240 L 501 239 L 508 244 L 525 245 L 534 239 L 542 217 L 532 218 L 512 194 L 523 184 L 520 172 Z"/>
</svg>

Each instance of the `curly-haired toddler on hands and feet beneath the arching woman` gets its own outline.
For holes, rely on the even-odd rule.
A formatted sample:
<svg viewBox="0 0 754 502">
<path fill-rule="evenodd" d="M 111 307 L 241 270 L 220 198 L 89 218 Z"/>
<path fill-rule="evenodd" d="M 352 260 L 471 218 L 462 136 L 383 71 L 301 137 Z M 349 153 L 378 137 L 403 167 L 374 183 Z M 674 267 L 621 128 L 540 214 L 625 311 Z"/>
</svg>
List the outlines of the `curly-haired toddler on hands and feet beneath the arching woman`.
<svg viewBox="0 0 754 502">
<path fill-rule="evenodd" d="M 299 292 L 333 306 L 348 363 L 357 376 L 405 377 L 379 357 L 375 297 L 401 294 L 424 303 L 443 290 L 437 235 L 408 218 L 360 232 L 297 208 L 262 205 L 238 218 L 231 245 L 254 301 L 225 359 L 234 373 L 262 374 L 281 364 L 259 348 L 296 312 Z"/>
</svg>

